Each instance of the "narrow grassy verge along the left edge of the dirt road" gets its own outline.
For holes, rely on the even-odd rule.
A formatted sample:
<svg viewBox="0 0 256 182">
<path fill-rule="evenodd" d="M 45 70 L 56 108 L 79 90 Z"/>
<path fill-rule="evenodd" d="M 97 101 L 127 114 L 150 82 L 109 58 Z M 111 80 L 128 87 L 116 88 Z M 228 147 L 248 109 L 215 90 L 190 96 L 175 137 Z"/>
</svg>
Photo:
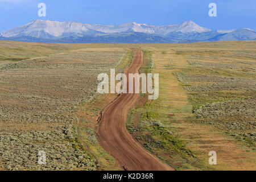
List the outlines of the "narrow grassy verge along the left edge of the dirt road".
<svg viewBox="0 0 256 182">
<path fill-rule="evenodd" d="M 126 51 L 126 56 L 116 67 L 115 71 L 117 73 L 122 73 L 123 69 L 133 60 L 133 51 L 131 49 Z M 96 159 L 98 169 L 100 170 L 121 170 L 121 167 L 112 156 L 100 146 L 94 133 L 101 111 L 115 100 L 116 97 L 117 94 L 97 94 L 91 102 L 82 103 L 77 111 L 79 138 L 86 150 L 90 152 L 90 155 Z"/>
</svg>

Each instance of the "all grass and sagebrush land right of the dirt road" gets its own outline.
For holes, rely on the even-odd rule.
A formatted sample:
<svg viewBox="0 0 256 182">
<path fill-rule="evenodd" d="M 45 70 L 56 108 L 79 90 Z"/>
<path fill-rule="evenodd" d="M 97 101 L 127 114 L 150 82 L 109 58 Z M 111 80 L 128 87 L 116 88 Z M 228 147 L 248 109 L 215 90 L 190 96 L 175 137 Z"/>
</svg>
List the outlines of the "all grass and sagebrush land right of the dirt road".
<svg viewBox="0 0 256 182">
<path fill-rule="evenodd" d="M 143 48 L 160 90 L 127 121 L 142 146 L 178 170 L 255 169 L 255 42 Z M 212 150 L 216 166 L 208 164 Z"/>
</svg>

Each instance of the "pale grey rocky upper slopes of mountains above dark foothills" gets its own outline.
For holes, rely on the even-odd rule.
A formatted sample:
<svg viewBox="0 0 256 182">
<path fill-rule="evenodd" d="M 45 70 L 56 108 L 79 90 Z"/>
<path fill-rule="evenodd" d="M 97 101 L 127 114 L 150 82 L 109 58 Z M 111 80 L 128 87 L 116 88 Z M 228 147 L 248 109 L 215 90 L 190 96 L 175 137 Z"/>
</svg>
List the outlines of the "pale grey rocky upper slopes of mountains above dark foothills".
<svg viewBox="0 0 256 182">
<path fill-rule="evenodd" d="M 118 25 L 83 24 L 77 22 L 57 22 L 50 20 L 34 20 L 23 26 L 15 27 L 1 34 L 2 37 L 31 36 L 45 38 L 46 36 L 60 37 L 64 34 L 86 34 L 86 32 L 102 32 L 103 34 L 116 34 L 121 32 L 143 32 L 146 34 L 167 35 L 170 32 L 205 32 L 208 28 L 187 21 L 181 24 L 167 26 L 152 26 L 139 23 L 125 23 Z"/>
</svg>

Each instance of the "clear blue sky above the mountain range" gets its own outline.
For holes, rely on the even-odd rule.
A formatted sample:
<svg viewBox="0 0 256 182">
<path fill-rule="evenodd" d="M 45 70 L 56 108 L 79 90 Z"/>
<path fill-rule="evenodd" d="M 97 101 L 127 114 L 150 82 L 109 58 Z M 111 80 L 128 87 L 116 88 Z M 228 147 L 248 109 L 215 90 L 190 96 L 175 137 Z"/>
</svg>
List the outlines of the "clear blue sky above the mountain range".
<svg viewBox="0 0 256 182">
<path fill-rule="evenodd" d="M 38 4 L 46 3 L 46 18 L 38 16 Z M 209 3 L 216 3 L 217 17 L 209 17 Z M 200 26 L 217 29 L 256 30 L 255 0 L 0 0 L 0 32 L 34 19 L 120 24 L 154 25 L 192 20 Z"/>
</svg>

